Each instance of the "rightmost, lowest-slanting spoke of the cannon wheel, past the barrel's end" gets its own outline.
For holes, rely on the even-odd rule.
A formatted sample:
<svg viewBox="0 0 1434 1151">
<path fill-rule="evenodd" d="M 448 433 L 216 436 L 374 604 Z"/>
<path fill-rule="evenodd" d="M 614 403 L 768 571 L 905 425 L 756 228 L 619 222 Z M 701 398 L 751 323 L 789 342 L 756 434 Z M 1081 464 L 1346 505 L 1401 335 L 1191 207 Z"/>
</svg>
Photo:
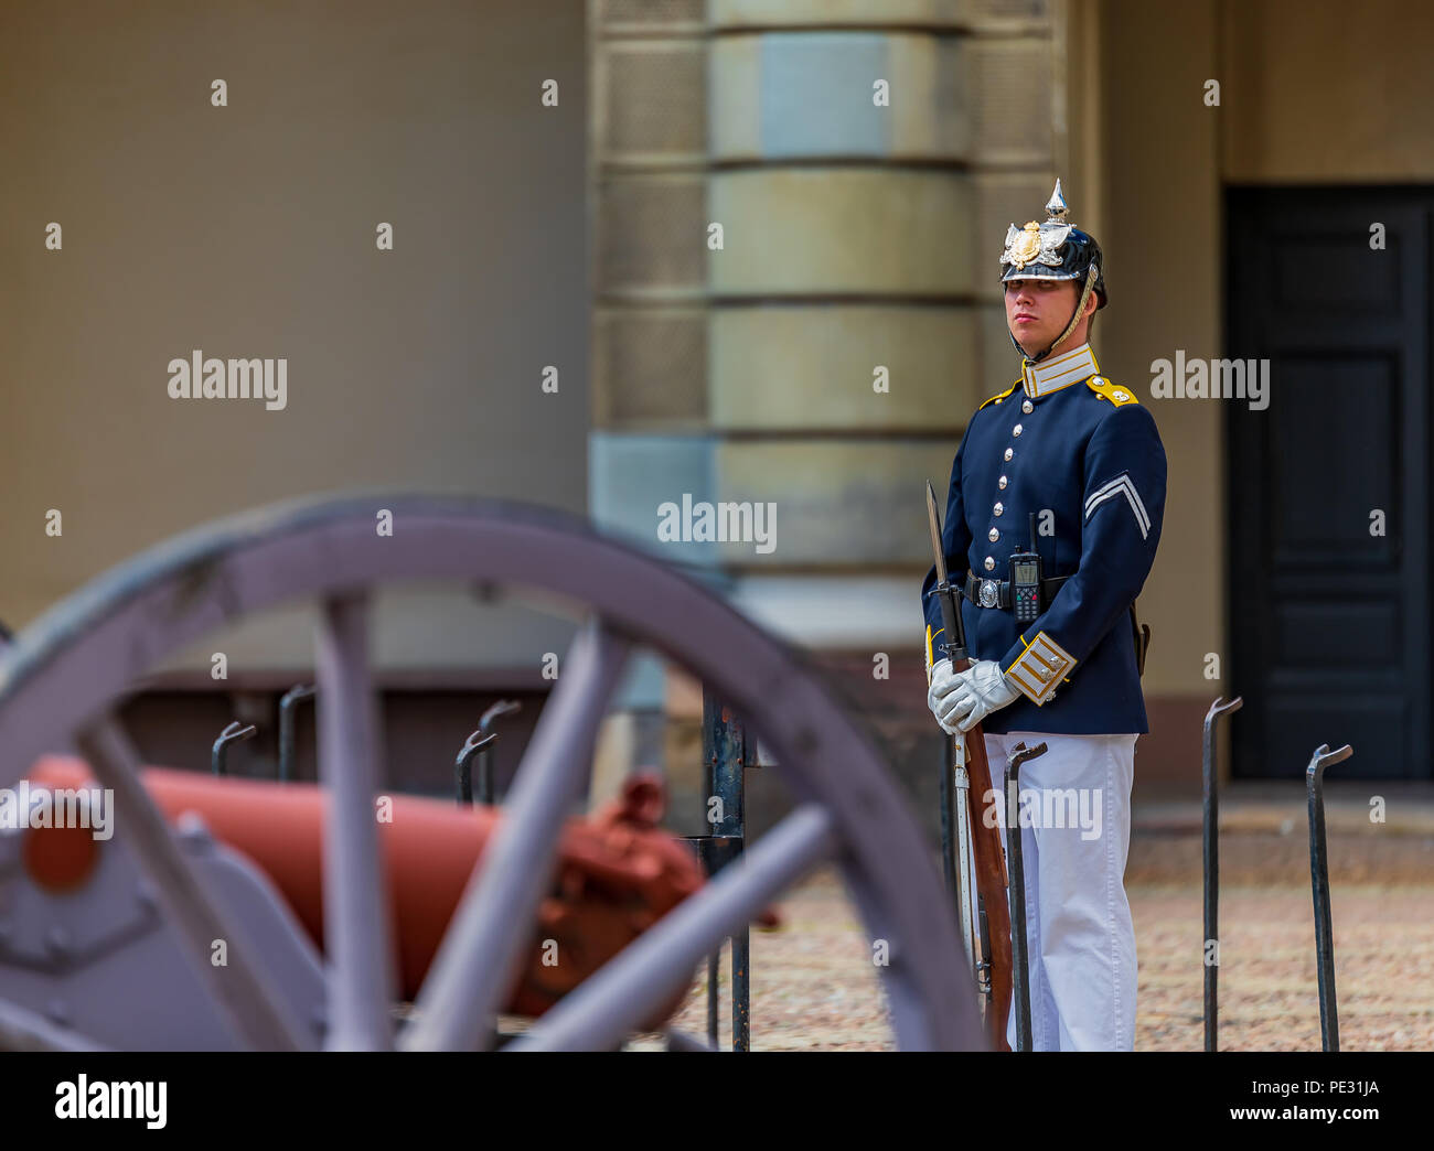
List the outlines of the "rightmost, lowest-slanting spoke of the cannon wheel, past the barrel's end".
<svg viewBox="0 0 1434 1151">
<path fill-rule="evenodd" d="M 605 1051 L 693 978 L 697 962 L 750 923 L 836 846 L 830 814 L 802 804 L 505 1051 Z"/>
</svg>

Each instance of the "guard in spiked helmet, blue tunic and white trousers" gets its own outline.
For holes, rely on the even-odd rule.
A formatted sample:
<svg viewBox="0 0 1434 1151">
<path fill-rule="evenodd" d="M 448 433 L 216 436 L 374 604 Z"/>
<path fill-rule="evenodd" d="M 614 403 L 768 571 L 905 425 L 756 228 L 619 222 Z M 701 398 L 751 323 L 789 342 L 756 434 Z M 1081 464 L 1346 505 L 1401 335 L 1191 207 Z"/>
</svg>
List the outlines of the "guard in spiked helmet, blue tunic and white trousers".
<svg viewBox="0 0 1434 1151">
<path fill-rule="evenodd" d="M 1011 748 L 1047 744 L 1021 773 L 1032 1042 L 1130 1051 L 1124 871 L 1136 738 L 1149 731 L 1149 631 L 1134 601 L 1160 540 L 1166 457 L 1150 413 L 1090 348 L 1106 307 L 1100 245 L 1067 222 L 1060 181 L 1045 211 L 1044 224 L 1011 225 L 1001 254 L 1021 378 L 971 416 L 951 467 L 942 546 L 964 585 L 972 664 L 932 667 L 934 566 L 922 586 L 928 705 L 948 732 L 984 725 L 1001 797 Z"/>
</svg>

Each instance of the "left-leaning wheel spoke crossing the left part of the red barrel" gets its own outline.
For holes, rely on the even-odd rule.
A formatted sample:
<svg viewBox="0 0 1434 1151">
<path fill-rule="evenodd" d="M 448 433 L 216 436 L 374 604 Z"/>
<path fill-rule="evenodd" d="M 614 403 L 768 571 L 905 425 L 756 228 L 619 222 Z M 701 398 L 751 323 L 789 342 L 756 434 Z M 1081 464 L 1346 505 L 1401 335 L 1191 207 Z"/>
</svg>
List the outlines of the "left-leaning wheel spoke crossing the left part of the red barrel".
<svg viewBox="0 0 1434 1151">
<path fill-rule="evenodd" d="M 175 925 L 179 945 L 232 1031 L 261 1051 L 298 1051 L 307 1043 L 290 1025 L 272 989 L 251 963 L 254 949 L 209 897 L 202 880 L 179 851 L 159 808 L 143 784 L 129 741 L 102 720 L 76 737 L 80 754 L 100 785 L 115 793 L 115 821 L 126 844 L 155 884 L 161 903 Z M 209 962 L 214 940 L 228 945 L 228 966 Z"/>
</svg>

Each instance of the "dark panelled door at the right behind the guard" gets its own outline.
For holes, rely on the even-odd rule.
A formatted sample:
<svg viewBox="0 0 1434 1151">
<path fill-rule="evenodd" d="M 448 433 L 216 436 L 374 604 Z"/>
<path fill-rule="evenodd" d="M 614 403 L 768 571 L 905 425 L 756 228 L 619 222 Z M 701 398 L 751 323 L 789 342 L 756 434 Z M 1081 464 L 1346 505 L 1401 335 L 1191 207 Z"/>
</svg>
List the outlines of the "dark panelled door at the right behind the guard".
<svg viewBox="0 0 1434 1151">
<path fill-rule="evenodd" d="M 1228 355 L 1271 381 L 1226 403 L 1233 773 L 1328 742 L 1427 780 L 1434 189 L 1232 188 L 1226 221 Z"/>
</svg>

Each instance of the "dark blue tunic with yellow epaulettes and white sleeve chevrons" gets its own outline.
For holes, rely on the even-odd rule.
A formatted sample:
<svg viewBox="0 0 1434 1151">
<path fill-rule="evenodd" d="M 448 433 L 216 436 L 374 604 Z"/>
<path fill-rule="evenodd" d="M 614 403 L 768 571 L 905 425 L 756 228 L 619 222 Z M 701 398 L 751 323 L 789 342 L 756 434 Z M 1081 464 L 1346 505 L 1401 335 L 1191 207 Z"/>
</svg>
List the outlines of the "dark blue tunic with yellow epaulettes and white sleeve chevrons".
<svg viewBox="0 0 1434 1151">
<path fill-rule="evenodd" d="M 1022 691 L 987 717 L 991 732 L 1149 731 L 1130 605 L 1160 540 L 1166 456 L 1150 413 L 1097 371 L 1088 345 L 1024 366 L 977 409 L 951 467 L 942 543 L 952 582 L 964 585 L 968 569 L 1010 579 L 1010 555 L 1030 548 L 1030 512 L 1043 576 L 1071 576 L 1024 631 L 1010 608 L 961 598 L 968 655 L 998 659 Z M 935 582 L 932 566 L 921 595 L 939 644 Z"/>
</svg>

